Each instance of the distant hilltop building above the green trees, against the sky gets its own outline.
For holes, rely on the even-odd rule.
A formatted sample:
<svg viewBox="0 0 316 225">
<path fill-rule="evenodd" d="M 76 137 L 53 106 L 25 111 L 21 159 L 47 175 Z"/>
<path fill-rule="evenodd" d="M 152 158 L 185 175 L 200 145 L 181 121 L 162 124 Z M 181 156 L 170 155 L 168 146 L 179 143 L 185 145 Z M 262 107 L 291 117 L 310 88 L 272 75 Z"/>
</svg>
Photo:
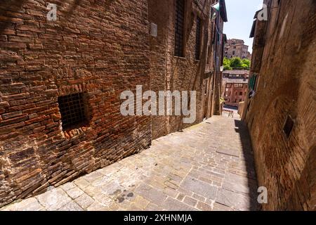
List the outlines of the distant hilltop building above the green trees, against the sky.
<svg viewBox="0 0 316 225">
<path fill-rule="evenodd" d="M 251 53 L 248 51 L 249 46 L 244 44 L 241 39 L 228 39 L 225 44 L 225 57 L 226 58 L 249 58 L 251 59 Z"/>
</svg>

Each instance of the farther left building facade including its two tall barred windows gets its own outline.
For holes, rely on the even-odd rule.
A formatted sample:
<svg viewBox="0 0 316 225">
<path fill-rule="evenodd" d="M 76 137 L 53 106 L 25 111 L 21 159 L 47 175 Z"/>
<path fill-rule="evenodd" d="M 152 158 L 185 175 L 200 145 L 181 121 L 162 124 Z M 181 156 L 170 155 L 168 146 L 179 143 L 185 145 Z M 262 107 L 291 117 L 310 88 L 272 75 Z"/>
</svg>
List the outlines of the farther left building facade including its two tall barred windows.
<svg viewBox="0 0 316 225">
<path fill-rule="evenodd" d="M 220 113 L 218 82 L 227 15 L 225 1 L 220 1 L 219 16 L 209 18 L 216 2 L 149 1 L 149 20 L 158 33 L 150 37 L 151 90 L 196 91 L 197 105 L 203 107 L 197 107 L 195 123 Z M 181 116 L 152 117 L 152 136 L 157 139 L 190 125 Z"/>
</svg>

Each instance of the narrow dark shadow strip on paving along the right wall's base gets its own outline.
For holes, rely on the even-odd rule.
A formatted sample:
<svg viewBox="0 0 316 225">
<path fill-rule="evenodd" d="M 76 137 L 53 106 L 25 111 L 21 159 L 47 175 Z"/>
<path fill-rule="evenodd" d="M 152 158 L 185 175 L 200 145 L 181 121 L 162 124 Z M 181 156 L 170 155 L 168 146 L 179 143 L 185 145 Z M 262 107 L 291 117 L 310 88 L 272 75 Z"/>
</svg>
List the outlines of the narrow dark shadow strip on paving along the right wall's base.
<svg viewBox="0 0 316 225">
<path fill-rule="evenodd" d="M 258 204 L 258 184 L 256 179 L 256 169 L 254 164 L 254 154 L 252 152 L 251 139 L 246 124 L 240 120 L 235 120 L 235 131 L 240 136 L 242 142 L 242 155 L 244 155 L 244 163 L 247 172 L 247 186 L 249 188 L 249 210 L 261 210 Z"/>
</svg>

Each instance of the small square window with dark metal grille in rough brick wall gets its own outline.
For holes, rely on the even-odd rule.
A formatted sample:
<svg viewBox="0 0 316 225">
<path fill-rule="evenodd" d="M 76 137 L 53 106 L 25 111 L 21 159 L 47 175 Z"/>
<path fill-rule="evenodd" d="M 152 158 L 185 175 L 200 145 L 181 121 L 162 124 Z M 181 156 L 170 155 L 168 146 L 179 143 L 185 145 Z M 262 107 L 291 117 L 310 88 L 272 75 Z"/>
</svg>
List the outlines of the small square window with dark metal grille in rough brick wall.
<svg viewBox="0 0 316 225">
<path fill-rule="evenodd" d="M 84 110 L 84 94 L 77 93 L 58 97 L 62 115 L 62 129 L 73 129 L 87 122 Z"/>
</svg>

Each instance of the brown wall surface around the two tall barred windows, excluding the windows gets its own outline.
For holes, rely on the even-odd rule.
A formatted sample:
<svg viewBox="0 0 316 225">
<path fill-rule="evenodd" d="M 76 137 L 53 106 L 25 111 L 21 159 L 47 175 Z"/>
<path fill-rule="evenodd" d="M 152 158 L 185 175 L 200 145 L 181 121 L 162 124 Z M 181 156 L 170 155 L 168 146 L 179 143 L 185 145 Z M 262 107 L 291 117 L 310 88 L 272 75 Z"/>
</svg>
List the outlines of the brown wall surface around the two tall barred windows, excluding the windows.
<svg viewBox="0 0 316 225">
<path fill-rule="evenodd" d="M 197 120 L 193 123 L 197 124 L 204 120 L 206 114 L 211 116 L 205 111 L 213 104 L 206 98 L 211 92 L 211 89 L 206 91 L 207 86 L 211 86 L 206 74 L 207 71 L 214 69 L 213 61 L 210 60 L 211 65 L 206 70 L 207 50 L 209 49 L 209 53 L 214 50 L 211 43 L 213 39 L 211 22 L 208 17 L 210 4 L 209 1 L 185 1 L 185 57 L 183 58 L 174 56 L 175 11 L 174 0 L 149 1 L 149 21 L 158 27 L 158 36 L 150 37 L 151 89 L 197 91 Z M 202 19 L 202 51 L 199 60 L 195 59 L 197 17 Z M 220 29 L 223 30 L 223 27 Z M 192 124 L 183 123 L 182 116 L 152 117 L 152 136 L 156 139 L 190 126 Z"/>
</svg>

